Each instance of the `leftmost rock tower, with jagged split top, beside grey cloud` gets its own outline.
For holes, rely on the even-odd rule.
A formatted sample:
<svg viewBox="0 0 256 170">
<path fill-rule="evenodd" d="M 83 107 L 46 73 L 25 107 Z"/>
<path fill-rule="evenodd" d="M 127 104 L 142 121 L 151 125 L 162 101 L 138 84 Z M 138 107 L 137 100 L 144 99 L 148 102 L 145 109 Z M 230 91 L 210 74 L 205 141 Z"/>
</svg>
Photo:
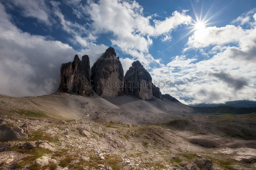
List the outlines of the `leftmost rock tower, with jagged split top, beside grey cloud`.
<svg viewBox="0 0 256 170">
<path fill-rule="evenodd" d="M 73 62 L 61 65 L 60 86 L 58 92 L 92 96 L 90 78 L 90 61 L 88 55 L 82 56 L 82 61 L 75 55 Z"/>
</svg>

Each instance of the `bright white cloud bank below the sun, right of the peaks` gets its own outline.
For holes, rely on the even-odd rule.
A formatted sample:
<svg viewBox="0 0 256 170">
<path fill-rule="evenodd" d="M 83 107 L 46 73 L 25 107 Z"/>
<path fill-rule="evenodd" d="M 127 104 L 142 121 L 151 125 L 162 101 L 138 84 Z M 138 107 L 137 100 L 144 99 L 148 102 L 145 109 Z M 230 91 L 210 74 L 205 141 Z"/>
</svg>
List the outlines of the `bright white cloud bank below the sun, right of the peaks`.
<svg viewBox="0 0 256 170">
<path fill-rule="evenodd" d="M 175 56 L 166 66 L 152 69 L 153 79 L 173 82 L 171 88 L 161 88 L 162 93 L 190 104 L 256 100 L 254 25 L 196 30 L 184 51 L 191 49 L 199 49 L 208 58 L 196 62 L 186 55 Z"/>
</svg>

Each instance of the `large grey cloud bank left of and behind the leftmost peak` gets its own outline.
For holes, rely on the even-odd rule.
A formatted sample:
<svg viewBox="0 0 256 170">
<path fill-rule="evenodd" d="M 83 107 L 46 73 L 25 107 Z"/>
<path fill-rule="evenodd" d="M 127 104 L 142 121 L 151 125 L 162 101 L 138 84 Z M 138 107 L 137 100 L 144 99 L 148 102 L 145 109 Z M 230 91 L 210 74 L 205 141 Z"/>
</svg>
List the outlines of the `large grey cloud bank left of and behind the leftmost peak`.
<svg viewBox="0 0 256 170">
<path fill-rule="evenodd" d="M 92 63 L 107 48 L 101 44 L 75 51 L 60 41 L 22 32 L 10 20 L 0 4 L 0 94 L 21 97 L 53 93 L 59 86 L 62 63 L 72 61 L 75 54 L 80 58 L 89 55 Z"/>
</svg>

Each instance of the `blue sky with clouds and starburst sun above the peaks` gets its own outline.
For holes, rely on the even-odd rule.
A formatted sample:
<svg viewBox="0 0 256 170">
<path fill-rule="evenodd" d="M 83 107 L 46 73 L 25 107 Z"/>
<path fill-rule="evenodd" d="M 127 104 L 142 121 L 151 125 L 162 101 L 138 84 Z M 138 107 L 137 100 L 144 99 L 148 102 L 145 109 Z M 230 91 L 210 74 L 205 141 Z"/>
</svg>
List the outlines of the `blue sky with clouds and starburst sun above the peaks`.
<svg viewBox="0 0 256 170">
<path fill-rule="evenodd" d="M 0 0 L 0 94 L 54 93 L 62 63 L 112 46 L 182 103 L 255 101 L 255 26 L 254 0 Z"/>
</svg>

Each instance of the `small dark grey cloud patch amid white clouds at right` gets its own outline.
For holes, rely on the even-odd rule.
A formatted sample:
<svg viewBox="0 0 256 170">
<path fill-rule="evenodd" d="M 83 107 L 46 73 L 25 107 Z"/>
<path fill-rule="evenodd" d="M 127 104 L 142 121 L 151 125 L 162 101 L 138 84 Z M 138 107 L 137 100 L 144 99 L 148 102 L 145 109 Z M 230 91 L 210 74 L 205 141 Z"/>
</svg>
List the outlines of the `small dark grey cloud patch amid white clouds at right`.
<svg viewBox="0 0 256 170">
<path fill-rule="evenodd" d="M 242 89 L 244 86 L 248 85 L 247 79 L 245 78 L 233 78 L 229 73 L 220 71 L 218 73 L 209 73 L 209 75 L 226 82 L 228 86 L 235 88 L 236 90 Z"/>
</svg>

